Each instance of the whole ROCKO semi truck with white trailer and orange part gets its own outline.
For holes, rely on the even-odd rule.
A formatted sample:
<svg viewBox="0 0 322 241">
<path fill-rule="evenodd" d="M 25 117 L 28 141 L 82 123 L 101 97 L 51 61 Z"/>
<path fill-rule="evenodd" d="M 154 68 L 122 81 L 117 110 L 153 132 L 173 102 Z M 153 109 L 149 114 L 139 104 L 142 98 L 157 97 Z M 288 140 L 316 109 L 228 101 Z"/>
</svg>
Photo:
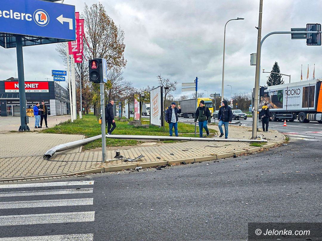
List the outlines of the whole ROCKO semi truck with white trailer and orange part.
<svg viewBox="0 0 322 241">
<path fill-rule="evenodd" d="M 322 79 L 313 79 L 269 86 L 260 97 L 259 111 L 267 102 L 271 121 L 298 120 L 301 123 L 322 123 L 321 83 Z"/>
</svg>

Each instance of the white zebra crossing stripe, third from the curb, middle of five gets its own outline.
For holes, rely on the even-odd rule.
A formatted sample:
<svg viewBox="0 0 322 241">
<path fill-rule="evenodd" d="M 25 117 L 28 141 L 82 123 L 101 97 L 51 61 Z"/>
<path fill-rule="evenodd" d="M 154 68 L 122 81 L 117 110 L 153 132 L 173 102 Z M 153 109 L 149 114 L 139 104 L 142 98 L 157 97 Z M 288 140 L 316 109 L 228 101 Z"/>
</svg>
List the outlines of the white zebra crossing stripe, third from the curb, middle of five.
<svg viewBox="0 0 322 241">
<path fill-rule="evenodd" d="M 93 205 L 92 198 L 0 202 L 0 209 Z"/>
</svg>

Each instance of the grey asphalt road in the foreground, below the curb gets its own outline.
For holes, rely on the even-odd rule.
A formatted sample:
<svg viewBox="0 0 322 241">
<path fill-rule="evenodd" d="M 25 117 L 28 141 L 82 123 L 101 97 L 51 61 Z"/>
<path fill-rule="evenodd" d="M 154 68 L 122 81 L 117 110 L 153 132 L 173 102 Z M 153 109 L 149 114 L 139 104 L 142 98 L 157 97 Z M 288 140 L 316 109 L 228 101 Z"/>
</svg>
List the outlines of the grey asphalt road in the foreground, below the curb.
<svg viewBox="0 0 322 241">
<path fill-rule="evenodd" d="M 36 240 L 246 240 L 248 222 L 320 222 L 321 148 L 296 140 L 219 162 L 58 180 L 94 181 L 88 185 L 2 185 L 0 241 L 44 235 L 50 237 Z M 33 192 L 41 190 L 53 191 Z M 39 200 L 51 200 L 49 207 Z"/>
</svg>

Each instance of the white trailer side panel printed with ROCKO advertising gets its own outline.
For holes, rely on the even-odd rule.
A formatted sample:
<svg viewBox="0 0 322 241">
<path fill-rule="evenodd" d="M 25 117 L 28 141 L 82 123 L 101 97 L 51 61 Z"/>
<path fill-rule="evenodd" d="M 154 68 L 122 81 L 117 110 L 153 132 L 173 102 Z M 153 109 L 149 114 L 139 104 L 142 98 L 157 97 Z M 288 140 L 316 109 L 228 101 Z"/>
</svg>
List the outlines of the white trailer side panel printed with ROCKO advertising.
<svg viewBox="0 0 322 241">
<path fill-rule="evenodd" d="M 260 109 L 267 102 L 270 111 L 313 110 L 315 96 L 315 81 L 270 86 L 264 96 L 260 97 Z"/>
</svg>

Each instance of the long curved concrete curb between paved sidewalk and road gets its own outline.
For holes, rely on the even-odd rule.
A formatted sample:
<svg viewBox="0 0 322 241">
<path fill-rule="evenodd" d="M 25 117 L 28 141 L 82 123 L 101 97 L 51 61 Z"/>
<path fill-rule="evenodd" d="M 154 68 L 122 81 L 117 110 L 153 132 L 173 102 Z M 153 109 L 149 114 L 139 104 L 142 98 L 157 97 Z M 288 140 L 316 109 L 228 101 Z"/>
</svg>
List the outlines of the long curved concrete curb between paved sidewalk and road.
<svg viewBox="0 0 322 241">
<path fill-rule="evenodd" d="M 27 181 L 27 180 L 38 179 L 38 178 L 49 178 L 49 177 L 70 176 L 70 175 L 80 175 L 80 174 L 93 174 L 93 173 L 95 174 L 95 173 L 106 173 L 106 172 L 118 172 L 118 171 L 127 170 L 127 169 L 135 169 L 138 166 L 142 166 L 142 168 L 149 168 L 149 167 L 156 167 L 156 166 L 160 166 L 160 165 L 179 164 L 181 162 L 192 163 L 192 162 L 212 161 L 212 160 L 216 160 L 216 159 L 229 158 L 234 155 L 240 155 L 242 153 L 250 154 L 250 153 L 258 152 L 263 149 L 269 149 L 271 147 L 276 147 L 276 146 L 285 142 L 286 136 L 285 135 L 283 135 L 283 136 L 284 136 L 284 140 L 272 141 L 269 144 L 266 144 L 262 147 L 250 147 L 250 148 L 246 148 L 246 149 L 242 149 L 242 150 L 235 150 L 235 151 L 227 152 L 227 153 L 213 154 L 210 156 L 197 156 L 197 157 L 181 158 L 181 159 L 174 159 L 174 160 L 168 160 L 168 161 L 153 161 L 153 162 L 144 162 L 144 163 L 133 162 L 133 163 L 126 163 L 124 165 L 112 165 L 112 166 L 106 166 L 106 167 L 97 167 L 97 168 L 91 168 L 88 170 L 80 170 L 80 171 L 59 173 L 59 174 L 49 174 L 49 175 L 42 175 L 42 176 L 19 176 L 19 177 L 12 177 L 12 178 L 0 178 L 0 182 L 18 181 L 18 180 Z"/>
</svg>

